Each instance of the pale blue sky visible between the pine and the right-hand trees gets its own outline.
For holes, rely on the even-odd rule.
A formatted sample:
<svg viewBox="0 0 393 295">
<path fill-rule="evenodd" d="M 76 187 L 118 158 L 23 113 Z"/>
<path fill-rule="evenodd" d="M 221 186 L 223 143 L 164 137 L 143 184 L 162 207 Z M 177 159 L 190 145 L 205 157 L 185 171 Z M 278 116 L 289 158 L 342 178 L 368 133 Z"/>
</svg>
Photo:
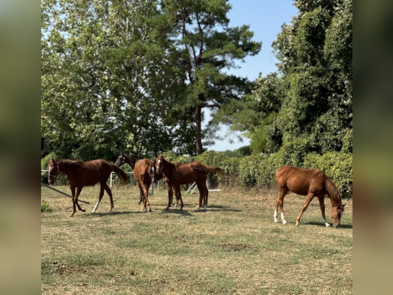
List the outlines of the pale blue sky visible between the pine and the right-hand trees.
<svg viewBox="0 0 393 295">
<path fill-rule="evenodd" d="M 290 24 L 292 16 L 298 15 L 298 9 L 293 5 L 292 0 L 230 0 L 232 9 L 227 14 L 230 20 L 229 26 L 237 27 L 249 25 L 254 32 L 254 41 L 262 41 L 262 49 L 257 56 L 247 57 L 244 63 L 239 63 L 240 69 L 230 70 L 230 73 L 240 77 L 247 77 L 253 81 L 258 78 L 259 73 L 266 76 L 277 70 L 277 59 L 272 53 L 271 44 L 277 39 L 281 32 L 281 26 Z M 205 112 L 205 117 L 210 115 Z M 229 126 L 222 125 L 221 135 L 228 134 Z M 249 140 L 244 138 L 239 142 L 233 136 L 234 142 L 226 140 L 216 140 L 215 144 L 208 146 L 208 150 L 226 151 L 239 149 L 241 146 L 249 144 Z"/>
</svg>

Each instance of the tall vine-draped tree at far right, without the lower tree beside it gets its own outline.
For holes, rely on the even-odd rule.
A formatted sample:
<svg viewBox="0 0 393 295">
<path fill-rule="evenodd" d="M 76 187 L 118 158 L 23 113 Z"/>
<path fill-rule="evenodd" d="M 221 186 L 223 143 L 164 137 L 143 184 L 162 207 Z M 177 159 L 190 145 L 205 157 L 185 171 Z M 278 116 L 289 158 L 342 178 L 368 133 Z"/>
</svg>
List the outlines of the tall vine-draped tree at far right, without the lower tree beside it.
<svg viewBox="0 0 393 295">
<path fill-rule="evenodd" d="M 270 150 L 296 138 L 310 151 L 340 151 L 352 130 L 352 1 L 296 1 L 274 48 L 288 91 L 268 132 Z M 279 135 L 279 136 L 278 136 Z"/>
</svg>

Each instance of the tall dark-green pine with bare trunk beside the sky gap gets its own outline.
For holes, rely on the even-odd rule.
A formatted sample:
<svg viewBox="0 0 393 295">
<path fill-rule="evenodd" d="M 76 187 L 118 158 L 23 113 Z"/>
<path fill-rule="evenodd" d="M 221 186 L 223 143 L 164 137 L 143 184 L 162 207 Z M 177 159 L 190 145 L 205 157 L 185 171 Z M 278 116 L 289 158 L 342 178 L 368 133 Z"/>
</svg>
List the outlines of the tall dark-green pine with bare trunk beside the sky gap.
<svg viewBox="0 0 393 295">
<path fill-rule="evenodd" d="M 226 14 L 231 5 L 227 0 L 164 0 L 160 7 L 160 15 L 152 20 L 150 46 L 159 48 L 165 61 L 164 76 L 157 79 L 178 85 L 172 85 L 172 96 L 160 100 L 166 102 L 168 121 L 187 114 L 187 127 L 194 131 L 194 151 L 201 154 L 202 140 L 208 135 L 201 128 L 203 109 L 214 112 L 249 90 L 249 81 L 228 75 L 225 69 L 234 67 L 235 60 L 257 54 L 261 43 L 251 40 L 249 26 L 228 26 Z"/>
</svg>

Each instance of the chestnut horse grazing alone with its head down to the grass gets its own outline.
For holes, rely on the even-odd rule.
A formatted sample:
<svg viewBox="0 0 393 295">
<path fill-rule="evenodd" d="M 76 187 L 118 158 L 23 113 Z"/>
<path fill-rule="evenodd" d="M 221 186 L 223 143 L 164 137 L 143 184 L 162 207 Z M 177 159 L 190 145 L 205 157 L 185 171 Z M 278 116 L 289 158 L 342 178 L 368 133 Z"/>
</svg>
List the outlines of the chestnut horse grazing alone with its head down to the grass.
<svg viewBox="0 0 393 295">
<path fill-rule="evenodd" d="M 341 194 L 333 182 L 318 169 L 302 169 L 293 166 L 284 166 L 277 170 L 276 181 L 279 189 L 279 196 L 277 198 L 276 210 L 274 210 L 274 222 L 277 220 L 277 212 L 280 207 L 281 220 L 283 224 L 287 224 L 284 218 L 283 212 L 283 201 L 288 191 L 291 191 L 298 195 L 307 196 L 306 202 L 300 214 L 296 218 L 296 225 L 299 226 L 300 217 L 303 212 L 307 209 L 313 197 L 318 197 L 319 205 L 322 212 L 322 222 L 326 227 L 330 226 L 326 222 L 325 217 L 325 203 L 324 197 L 327 194 L 331 201 L 331 219 L 333 221 L 333 227 L 338 228 L 341 223 L 341 217 L 344 214 L 344 206 L 341 203 Z"/>
</svg>

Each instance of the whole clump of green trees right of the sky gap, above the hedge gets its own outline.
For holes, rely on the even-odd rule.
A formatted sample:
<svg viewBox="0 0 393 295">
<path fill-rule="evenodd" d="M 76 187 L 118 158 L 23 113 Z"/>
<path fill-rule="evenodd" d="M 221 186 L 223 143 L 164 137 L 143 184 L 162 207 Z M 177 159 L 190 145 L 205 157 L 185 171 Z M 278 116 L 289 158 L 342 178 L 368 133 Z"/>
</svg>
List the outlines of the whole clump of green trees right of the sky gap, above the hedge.
<svg viewBox="0 0 393 295">
<path fill-rule="evenodd" d="M 259 77 L 244 103 L 233 104 L 222 118 L 246 132 L 256 153 L 284 145 L 302 148 L 302 154 L 351 151 L 352 1 L 294 4 L 298 16 L 272 44 L 279 75 Z"/>
</svg>

